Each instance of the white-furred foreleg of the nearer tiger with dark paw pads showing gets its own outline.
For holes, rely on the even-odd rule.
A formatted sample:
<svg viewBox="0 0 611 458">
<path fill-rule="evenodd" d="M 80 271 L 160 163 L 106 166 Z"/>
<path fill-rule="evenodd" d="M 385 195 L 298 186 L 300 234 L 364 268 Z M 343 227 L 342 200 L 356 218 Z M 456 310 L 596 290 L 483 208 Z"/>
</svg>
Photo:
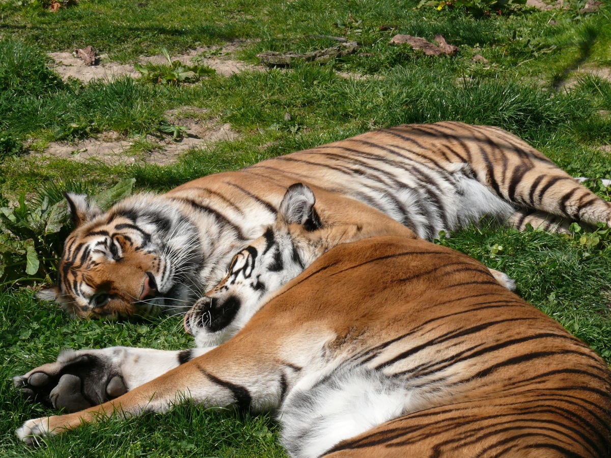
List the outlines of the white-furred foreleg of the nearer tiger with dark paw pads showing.
<svg viewBox="0 0 611 458">
<path fill-rule="evenodd" d="M 56 362 L 13 377 L 24 396 L 76 412 L 117 398 L 210 349 L 164 351 L 133 347 L 67 350 Z"/>
</svg>

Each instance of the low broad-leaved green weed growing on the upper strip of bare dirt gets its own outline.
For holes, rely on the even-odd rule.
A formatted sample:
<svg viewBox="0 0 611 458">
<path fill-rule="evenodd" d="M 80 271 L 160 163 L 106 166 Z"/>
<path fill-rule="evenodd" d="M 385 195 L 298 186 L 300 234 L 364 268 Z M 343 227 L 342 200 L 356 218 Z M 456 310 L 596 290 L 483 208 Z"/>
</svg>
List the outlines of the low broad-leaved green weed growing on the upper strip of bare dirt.
<svg viewBox="0 0 611 458">
<path fill-rule="evenodd" d="M 185 65 L 180 60 L 172 60 L 166 48 L 161 48 L 161 54 L 166 58 L 167 65 L 155 65 L 150 62 L 146 65 L 134 65 L 134 69 L 142 75 L 142 80 L 155 84 L 178 84 L 197 82 L 205 76 L 216 73 L 207 65 Z"/>
</svg>

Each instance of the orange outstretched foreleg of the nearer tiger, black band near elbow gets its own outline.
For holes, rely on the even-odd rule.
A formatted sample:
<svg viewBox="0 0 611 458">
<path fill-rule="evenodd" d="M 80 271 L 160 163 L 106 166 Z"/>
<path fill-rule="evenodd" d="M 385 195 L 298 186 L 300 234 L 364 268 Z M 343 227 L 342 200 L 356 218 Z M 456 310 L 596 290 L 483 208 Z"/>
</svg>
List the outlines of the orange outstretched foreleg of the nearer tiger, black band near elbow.
<svg viewBox="0 0 611 458">
<path fill-rule="evenodd" d="M 205 407 L 230 404 L 254 410 L 279 407 L 286 380 L 273 355 L 266 355 L 256 345 L 246 347 L 246 351 L 236 346 L 224 349 L 225 346 L 216 347 L 112 401 L 80 412 L 26 421 L 16 434 L 28 445 L 36 445 L 39 437 L 67 432 L 82 423 L 98 423 L 114 413 L 127 417 L 163 413 L 185 399 Z"/>
</svg>

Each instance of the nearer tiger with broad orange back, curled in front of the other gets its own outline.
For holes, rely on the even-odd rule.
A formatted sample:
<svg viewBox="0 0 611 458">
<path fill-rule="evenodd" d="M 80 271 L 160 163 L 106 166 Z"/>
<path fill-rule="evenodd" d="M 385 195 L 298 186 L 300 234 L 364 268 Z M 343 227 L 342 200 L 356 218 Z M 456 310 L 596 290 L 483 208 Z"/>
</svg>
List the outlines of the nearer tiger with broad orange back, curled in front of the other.
<svg viewBox="0 0 611 458">
<path fill-rule="evenodd" d="M 320 255 L 329 240 L 321 234 L 333 230 L 317 227 L 315 215 L 309 203 L 283 200 L 277 223 L 186 315 L 185 327 L 203 343 L 236 318 L 227 310 L 251 308 L 229 341 L 150 351 L 166 355 L 161 365 L 177 357 L 183 364 L 113 401 L 29 420 L 18 436 L 32 444 L 115 410 L 164 412 L 182 396 L 277 409 L 293 456 L 609 456 L 607 366 L 466 255 L 406 236 L 362 239 L 332 248 L 267 295 L 266 282 L 281 283 L 285 269 L 307 263 L 304 255 Z M 243 302 L 244 291 L 263 292 Z M 82 391 L 51 393 L 86 403 L 80 393 L 107 396 L 120 386 L 103 362 L 129 350 L 73 352 L 60 370 L 57 362 L 15 381 L 44 395 L 62 370 L 76 378 L 89 371 Z M 140 359 L 128 363 L 145 368 L 155 358 Z"/>
</svg>

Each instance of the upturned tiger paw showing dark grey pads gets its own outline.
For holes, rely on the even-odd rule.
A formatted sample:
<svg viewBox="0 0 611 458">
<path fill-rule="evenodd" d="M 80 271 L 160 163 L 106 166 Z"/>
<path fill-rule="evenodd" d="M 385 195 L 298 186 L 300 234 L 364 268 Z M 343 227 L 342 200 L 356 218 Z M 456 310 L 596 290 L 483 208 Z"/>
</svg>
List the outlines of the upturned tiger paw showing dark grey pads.
<svg viewBox="0 0 611 458">
<path fill-rule="evenodd" d="M 55 409 L 77 412 L 128 391 L 111 358 L 89 351 L 66 351 L 57 361 L 13 377 L 26 398 Z"/>
</svg>

